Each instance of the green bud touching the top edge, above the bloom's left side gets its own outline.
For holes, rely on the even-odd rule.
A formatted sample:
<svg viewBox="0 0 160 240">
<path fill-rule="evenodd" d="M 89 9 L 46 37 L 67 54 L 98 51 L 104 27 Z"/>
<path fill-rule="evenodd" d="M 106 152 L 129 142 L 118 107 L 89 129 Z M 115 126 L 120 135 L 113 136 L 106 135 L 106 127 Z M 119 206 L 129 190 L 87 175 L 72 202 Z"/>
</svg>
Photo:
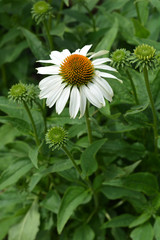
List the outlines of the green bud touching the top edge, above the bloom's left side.
<svg viewBox="0 0 160 240">
<path fill-rule="evenodd" d="M 33 5 L 31 13 L 36 23 L 39 24 L 51 15 L 52 7 L 45 1 L 38 1 Z"/>
</svg>

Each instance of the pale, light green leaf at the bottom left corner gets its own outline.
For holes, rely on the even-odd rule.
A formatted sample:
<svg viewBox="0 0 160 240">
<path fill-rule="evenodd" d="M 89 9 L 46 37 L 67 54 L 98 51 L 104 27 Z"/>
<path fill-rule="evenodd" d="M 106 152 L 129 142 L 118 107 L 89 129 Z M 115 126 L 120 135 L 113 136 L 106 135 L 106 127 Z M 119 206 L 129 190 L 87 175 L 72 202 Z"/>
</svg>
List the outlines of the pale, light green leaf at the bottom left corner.
<svg viewBox="0 0 160 240">
<path fill-rule="evenodd" d="M 38 204 L 37 202 L 33 202 L 22 221 L 10 229 L 8 240 L 35 240 L 39 224 L 40 214 L 38 212 Z"/>
</svg>

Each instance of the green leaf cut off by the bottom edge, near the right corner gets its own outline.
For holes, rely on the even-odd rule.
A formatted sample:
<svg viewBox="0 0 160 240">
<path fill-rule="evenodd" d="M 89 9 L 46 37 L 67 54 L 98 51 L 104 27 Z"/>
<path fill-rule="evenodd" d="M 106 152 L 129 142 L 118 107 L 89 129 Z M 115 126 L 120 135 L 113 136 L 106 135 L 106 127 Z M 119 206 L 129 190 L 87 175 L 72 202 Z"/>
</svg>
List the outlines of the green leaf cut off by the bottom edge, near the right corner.
<svg viewBox="0 0 160 240">
<path fill-rule="evenodd" d="M 132 240 L 153 240 L 154 232 L 152 225 L 150 223 L 141 225 L 140 227 L 135 228 L 130 236 Z"/>
</svg>

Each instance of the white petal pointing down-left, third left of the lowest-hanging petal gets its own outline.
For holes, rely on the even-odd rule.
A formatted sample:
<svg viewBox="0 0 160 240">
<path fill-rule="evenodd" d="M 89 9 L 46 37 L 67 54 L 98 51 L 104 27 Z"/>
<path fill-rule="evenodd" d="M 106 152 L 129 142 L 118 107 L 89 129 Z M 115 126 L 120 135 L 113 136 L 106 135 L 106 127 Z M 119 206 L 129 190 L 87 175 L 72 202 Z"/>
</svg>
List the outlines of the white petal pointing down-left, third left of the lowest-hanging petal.
<svg viewBox="0 0 160 240">
<path fill-rule="evenodd" d="M 52 93 L 54 94 L 55 91 L 61 86 L 61 81 L 57 81 L 55 84 L 50 84 L 46 88 L 41 89 L 39 98 L 48 98 Z"/>
</svg>

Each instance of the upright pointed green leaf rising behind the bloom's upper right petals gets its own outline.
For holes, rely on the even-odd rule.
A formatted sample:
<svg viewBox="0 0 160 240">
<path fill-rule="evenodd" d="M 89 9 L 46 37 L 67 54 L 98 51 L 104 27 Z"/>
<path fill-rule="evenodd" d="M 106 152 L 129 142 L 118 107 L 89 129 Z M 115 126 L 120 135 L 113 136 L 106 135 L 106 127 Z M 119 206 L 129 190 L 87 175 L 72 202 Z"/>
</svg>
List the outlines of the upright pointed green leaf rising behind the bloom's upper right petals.
<svg viewBox="0 0 160 240">
<path fill-rule="evenodd" d="M 112 25 L 112 28 L 104 34 L 103 38 L 96 46 L 95 52 L 100 51 L 102 49 L 110 50 L 110 48 L 113 45 L 113 42 L 116 39 L 117 33 L 118 33 L 118 21 L 116 19 Z"/>
</svg>

